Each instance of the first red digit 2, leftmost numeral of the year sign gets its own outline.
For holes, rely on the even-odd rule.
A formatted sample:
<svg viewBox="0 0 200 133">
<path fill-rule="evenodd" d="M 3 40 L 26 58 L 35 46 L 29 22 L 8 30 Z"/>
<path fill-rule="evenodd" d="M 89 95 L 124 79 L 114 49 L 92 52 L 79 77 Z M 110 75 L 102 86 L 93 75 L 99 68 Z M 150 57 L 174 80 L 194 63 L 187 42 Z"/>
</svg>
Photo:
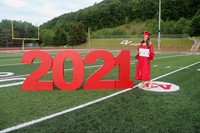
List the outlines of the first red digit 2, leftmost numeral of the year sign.
<svg viewBox="0 0 200 133">
<path fill-rule="evenodd" d="M 41 65 L 26 78 L 22 90 L 53 90 L 53 81 L 38 81 L 52 66 L 51 55 L 44 51 L 30 51 L 23 55 L 21 63 L 32 64 L 35 58 L 41 60 Z"/>
</svg>

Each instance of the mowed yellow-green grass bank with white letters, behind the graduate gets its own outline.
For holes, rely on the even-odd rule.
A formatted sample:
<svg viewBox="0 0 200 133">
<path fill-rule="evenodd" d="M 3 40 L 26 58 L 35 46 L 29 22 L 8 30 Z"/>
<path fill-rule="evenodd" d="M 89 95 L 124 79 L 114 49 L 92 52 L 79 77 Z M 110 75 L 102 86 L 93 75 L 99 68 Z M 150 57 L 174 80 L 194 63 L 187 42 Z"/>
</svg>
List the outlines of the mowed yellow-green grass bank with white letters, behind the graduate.
<svg viewBox="0 0 200 133">
<path fill-rule="evenodd" d="M 117 38 L 117 39 L 91 39 L 86 45 L 87 48 L 104 48 L 104 49 L 136 49 L 137 46 L 130 44 L 121 44 L 124 40 L 132 41 L 132 44 L 138 44 L 140 38 Z M 158 49 L 156 38 L 152 38 L 151 42 L 155 49 Z M 181 50 L 190 51 L 193 41 L 188 38 L 163 38 L 161 39 L 161 50 Z"/>
</svg>

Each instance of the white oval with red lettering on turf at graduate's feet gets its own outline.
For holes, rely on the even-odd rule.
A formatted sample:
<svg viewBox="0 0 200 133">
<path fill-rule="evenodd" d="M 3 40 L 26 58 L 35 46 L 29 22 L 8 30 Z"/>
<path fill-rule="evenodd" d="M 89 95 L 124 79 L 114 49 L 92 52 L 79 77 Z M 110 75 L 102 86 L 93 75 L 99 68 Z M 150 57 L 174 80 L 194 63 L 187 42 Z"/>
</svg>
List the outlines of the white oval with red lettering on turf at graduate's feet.
<svg viewBox="0 0 200 133">
<path fill-rule="evenodd" d="M 174 92 L 178 91 L 180 87 L 172 83 L 153 81 L 151 88 L 148 88 L 148 83 L 145 83 L 145 87 L 141 89 L 155 92 Z"/>
</svg>

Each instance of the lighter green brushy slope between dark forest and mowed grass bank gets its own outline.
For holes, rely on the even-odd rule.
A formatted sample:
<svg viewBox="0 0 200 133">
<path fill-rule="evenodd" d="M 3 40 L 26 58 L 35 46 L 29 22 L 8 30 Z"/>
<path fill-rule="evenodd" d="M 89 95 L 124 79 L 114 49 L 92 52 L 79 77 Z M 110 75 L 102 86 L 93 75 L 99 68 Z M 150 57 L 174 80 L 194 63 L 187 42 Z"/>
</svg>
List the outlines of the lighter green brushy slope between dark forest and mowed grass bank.
<svg viewBox="0 0 200 133">
<path fill-rule="evenodd" d="M 178 21 L 161 21 L 161 34 L 175 35 L 176 37 L 185 36 L 191 33 L 191 20 L 180 18 Z M 133 36 L 141 37 L 143 31 L 151 31 L 152 37 L 157 37 L 158 20 L 148 19 L 146 21 L 132 21 L 127 24 L 119 25 L 113 28 L 103 28 L 97 31 L 91 31 L 91 38 Z M 175 37 L 174 36 L 174 37 Z"/>
</svg>

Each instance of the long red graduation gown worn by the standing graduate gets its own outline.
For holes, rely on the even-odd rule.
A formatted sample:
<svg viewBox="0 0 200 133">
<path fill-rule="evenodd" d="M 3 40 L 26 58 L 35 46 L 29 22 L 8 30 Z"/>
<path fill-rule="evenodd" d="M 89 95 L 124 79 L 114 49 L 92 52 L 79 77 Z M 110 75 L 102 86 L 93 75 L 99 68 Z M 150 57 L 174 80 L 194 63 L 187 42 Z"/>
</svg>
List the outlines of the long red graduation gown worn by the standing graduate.
<svg viewBox="0 0 200 133">
<path fill-rule="evenodd" d="M 141 56 L 139 54 L 139 49 L 149 49 L 149 57 Z M 136 73 L 135 78 L 136 80 L 150 80 L 150 60 L 154 58 L 154 48 L 153 45 L 150 44 L 150 48 L 146 45 L 142 44 L 138 46 L 138 54 L 135 56 L 138 59 L 137 66 L 136 66 Z"/>
</svg>

